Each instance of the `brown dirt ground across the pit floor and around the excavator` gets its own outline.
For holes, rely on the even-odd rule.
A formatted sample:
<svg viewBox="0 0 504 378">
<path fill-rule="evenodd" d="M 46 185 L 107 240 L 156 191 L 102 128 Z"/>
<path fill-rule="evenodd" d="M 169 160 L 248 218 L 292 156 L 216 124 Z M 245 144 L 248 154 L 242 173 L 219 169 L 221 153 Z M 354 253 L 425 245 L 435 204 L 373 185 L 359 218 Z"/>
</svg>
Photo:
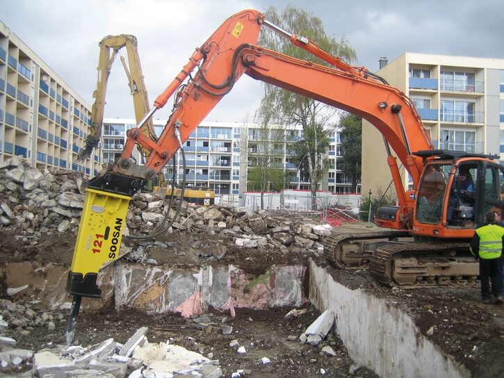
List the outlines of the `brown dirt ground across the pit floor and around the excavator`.
<svg viewBox="0 0 504 378">
<path fill-rule="evenodd" d="M 74 240 L 75 236 L 70 233 L 47 240 L 36 235 L 26 238 L 17 235 L 15 230 L 4 229 L 0 231 L 0 263 L 36 260 L 70 266 Z M 219 243 L 220 236 L 206 236 L 205 240 L 209 245 Z M 228 247 L 224 258 L 205 260 L 193 254 L 197 243 L 200 243 L 197 235 L 173 233 L 163 236 L 161 241 L 168 243 L 170 254 L 162 252 L 165 249 L 161 247 L 146 244 L 143 245 L 144 256 L 154 258 L 158 263 L 233 263 L 249 272 L 263 272 L 263 268 L 273 264 L 298 264 L 306 262 L 307 258 L 316 258 L 320 265 L 327 266 L 327 270 L 341 284 L 349 288 L 363 288 L 377 297 L 387 298 L 391 305 L 399 306 L 411 314 L 421 332 L 469 368 L 474 377 L 504 377 L 504 306 L 481 304 L 478 286 L 391 289 L 373 281 L 366 270 L 340 270 L 304 250 L 288 254 L 260 254 L 254 249 Z M 200 243 L 200 247 L 204 246 Z M 5 298 L 6 287 L 0 289 L 0 297 Z M 293 320 L 284 318 L 290 308 L 270 311 L 237 309 L 236 318 L 226 323 L 233 327 L 231 335 L 224 335 L 212 327 L 202 329 L 192 320 L 175 314 L 154 316 L 132 311 L 115 313 L 111 310 L 81 313 L 74 344 L 94 345 L 107 338 L 124 343 L 136 329 L 147 326 L 150 342 L 170 339 L 170 343 L 204 355 L 213 352 L 213 358 L 220 361 L 225 377 L 238 369 L 245 369 L 250 377 L 314 377 L 320 375 L 320 369 L 325 370 L 329 377 L 348 377 L 355 363 L 348 358 L 345 347 L 336 335 L 331 335 L 325 341 L 325 345 L 332 345 L 336 357 L 321 353 L 320 347 L 287 340 L 288 336 L 298 337 L 319 315 L 309 304 L 306 304 L 306 308 L 309 310 L 306 314 Z M 66 318 L 67 314 L 64 315 Z M 216 324 L 222 324 L 222 318 L 229 316 L 218 311 L 210 311 L 209 315 Z M 58 322 L 56 330 L 51 332 L 35 328 L 29 336 L 19 338 L 17 347 L 37 351 L 49 347 L 51 343 L 64 343 L 65 329 L 65 320 Z M 19 337 L 15 330 L 10 332 L 11 337 Z M 245 346 L 247 354 L 237 354 L 236 350 L 229 347 L 233 339 Z M 260 359 L 265 356 L 273 363 L 263 365 Z M 364 368 L 357 370 L 355 375 L 375 377 L 373 372 Z"/>
</svg>

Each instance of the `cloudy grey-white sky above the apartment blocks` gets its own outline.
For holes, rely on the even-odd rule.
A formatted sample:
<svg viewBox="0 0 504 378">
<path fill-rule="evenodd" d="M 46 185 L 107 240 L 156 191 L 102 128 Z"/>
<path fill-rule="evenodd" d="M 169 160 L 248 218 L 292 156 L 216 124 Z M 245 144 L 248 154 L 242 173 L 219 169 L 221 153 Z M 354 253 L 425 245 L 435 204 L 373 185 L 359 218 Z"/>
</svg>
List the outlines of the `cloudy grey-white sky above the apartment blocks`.
<svg viewBox="0 0 504 378">
<path fill-rule="evenodd" d="M 381 56 L 393 60 L 406 51 L 504 58 L 503 0 L 3 0 L 0 19 L 90 105 L 98 42 L 106 35 L 136 35 L 152 103 L 227 17 L 288 4 L 320 17 L 328 34 L 355 48 L 357 65 L 371 71 Z M 242 122 L 260 97 L 261 83 L 242 76 L 206 120 Z M 106 100 L 106 117 L 134 117 L 118 59 Z M 154 117 L 165 120 L 169 108 Z"/>
</svg>

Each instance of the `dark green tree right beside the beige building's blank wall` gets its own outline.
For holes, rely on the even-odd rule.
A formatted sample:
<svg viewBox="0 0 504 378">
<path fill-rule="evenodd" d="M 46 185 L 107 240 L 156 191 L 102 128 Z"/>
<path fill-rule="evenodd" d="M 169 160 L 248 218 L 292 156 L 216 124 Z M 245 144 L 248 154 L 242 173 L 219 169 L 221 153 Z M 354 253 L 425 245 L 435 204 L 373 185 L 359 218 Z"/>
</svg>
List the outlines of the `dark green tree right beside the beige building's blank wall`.
<svg viewBox="0 0 504 378">
<path fill-rule="evenodd" d="M 352 181 L 352 190 L 357 192 L 361 178 L 362 118 L 346 113 L 339 121 L 341 133 L 341 172 Z"/>
</svg>

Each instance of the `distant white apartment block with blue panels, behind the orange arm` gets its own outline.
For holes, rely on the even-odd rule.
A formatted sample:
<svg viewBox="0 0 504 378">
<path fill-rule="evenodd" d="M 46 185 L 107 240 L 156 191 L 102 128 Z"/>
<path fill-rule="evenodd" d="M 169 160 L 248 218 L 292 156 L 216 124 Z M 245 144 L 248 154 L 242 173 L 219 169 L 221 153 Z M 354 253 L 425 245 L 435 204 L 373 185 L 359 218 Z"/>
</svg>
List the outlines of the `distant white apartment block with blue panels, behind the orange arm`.
<svg viewBox="0 0 504 378">
<path fill-rule="evenodd" d="M 165 121 L 154 120 L 154 129 L 161 135 Z M 106 118 L 103 129 L 102 161 L 113 163 L 121 154 L 127 130 L 135 126 L 133 119 Z M 292 153 L 292 144 L 302 137 L 302 129 L 287 130 L 273 127 L 268 140 L 268 153 L 271 165 L 285 170 L 288 182 L 286 188 L 309 190 L 309 176 L 299 170 Z M 184 143 L 186 153 L 186 185 L 210 188 L 225 202 L 237 202 L 239 195 L 247 190 L 254 190 L 247 179 L 247 172 L 252 166 L 254 156 L 261 153 L 263 135 L 257 125 L 237 122 L 203 122 L 190 134 Z M 335 193 L 350 192 L 350 183 L 346 181 L 338 167 L 341 157 L 339 133 L 330 134 L 330 170 L 318 189 Z M 175 159 L 176 179 L 181 183 L 184 173 L 181 154 Z M 140 163 L 141 158 L 138 158 Z M 167 179 L 174 174 L 170 160 L 164 167 Z"/>
</svg>

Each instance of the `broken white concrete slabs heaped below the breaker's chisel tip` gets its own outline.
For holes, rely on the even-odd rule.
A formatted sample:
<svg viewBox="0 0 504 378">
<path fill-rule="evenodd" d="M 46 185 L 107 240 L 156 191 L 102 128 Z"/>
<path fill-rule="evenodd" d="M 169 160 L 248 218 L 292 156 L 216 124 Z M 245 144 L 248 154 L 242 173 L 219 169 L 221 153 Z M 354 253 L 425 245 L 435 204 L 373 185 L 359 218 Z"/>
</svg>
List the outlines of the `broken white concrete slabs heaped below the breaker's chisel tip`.
<svg viewBox="0 0 504 378">
<path fill-rule="evenodd" d="M 1 347 L 0 368 L 32 366 L 33 377 L 222 377 L 218 360 L 179 345 L 149 343 L 142 327 L 121 345 L 113 339 L 90 347 L 55 345 L 33 352 Z"/>
</svg>

